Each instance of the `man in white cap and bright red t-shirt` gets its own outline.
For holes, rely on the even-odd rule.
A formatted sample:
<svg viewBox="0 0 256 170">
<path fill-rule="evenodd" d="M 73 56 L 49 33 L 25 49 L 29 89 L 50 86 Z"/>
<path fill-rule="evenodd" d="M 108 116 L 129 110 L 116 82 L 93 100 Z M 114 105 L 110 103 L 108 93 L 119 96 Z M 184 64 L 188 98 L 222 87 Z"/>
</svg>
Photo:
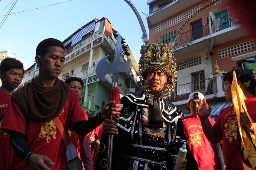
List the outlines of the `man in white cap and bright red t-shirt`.
<svg viewBox="0 0 256 170">
<path fill-rule="evenodd" d="M 197 115 L 197 107 L 203 104 L 204 95 L 200 92 L 194 92 L 189 95 L 186 105 L 191 114 L 181 117 L 184 125 L 184 133 L 187 137 L 190 150 L 198 163 L 199 170 L 224 170 L 224 161 L 219 143 L 211 145 L 204 135 L 200 119 Z M 211 125 L 215 121 L 208 117 Z M 220 152 L 214 152 L 213 147 L 219 148 Z M 218 159 L 214 159 L 214 157 Z M 220 158 L 219 158 L 220 157 Z M 216 162 L 215 162 L 216 161 Z"/>
</svg>

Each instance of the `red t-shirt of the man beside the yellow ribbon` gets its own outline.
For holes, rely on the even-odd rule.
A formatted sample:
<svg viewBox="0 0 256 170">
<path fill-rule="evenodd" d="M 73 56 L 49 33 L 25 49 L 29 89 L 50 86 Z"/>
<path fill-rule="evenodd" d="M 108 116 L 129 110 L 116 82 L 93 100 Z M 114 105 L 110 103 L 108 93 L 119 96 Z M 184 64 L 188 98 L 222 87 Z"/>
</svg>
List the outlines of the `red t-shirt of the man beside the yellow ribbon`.
<svg viewBox="0 0 256 170">
<path fill-rule="evenodd" d="M 256 97 L 246 99 L 245 105 L 251 119 L 256 122 Z M 221 110 L 213 128 L 223 138 L 222 150 L 224 162 L 227 166 L 226 170 L 244 169 L 239 152 L 240 146 L 237 138 L 238 123 L 233 106 Z"/>
</svg>

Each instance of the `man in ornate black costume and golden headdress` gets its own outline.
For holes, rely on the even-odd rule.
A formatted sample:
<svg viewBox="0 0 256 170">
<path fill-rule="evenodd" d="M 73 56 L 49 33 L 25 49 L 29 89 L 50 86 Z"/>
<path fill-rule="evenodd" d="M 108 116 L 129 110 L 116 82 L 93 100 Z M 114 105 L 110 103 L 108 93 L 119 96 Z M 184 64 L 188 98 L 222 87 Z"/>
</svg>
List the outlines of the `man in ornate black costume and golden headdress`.
<svg viewBox="0 0 256 170">
<path fill-rule="evenodd" d="M 140 82 L 143 91 L 123 96 L 117 131 L 113 141 L 112 170 L 173 170 L 178 150 L 186 142 L 182 112 L 165 97 L 176 81 L 176 60 L 167 44 L 146 42 L 140 51 Z M 107 130 L 113 120 L 105 120 L 97 170 L 107 167 Z M 197 170 L 197 162 L 187 146 L 182 170 Z"/>
</svg>

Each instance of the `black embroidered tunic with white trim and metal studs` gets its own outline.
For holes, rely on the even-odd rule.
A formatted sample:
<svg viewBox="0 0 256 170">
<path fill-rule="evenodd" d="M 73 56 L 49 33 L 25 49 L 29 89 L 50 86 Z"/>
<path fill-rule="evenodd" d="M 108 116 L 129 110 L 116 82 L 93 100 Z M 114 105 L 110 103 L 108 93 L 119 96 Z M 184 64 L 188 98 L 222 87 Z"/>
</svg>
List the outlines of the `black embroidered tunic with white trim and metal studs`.
<svg viewBox="0 0 256 170">
<path fill-rule="evenodd" d="M 173 170 L 172 157 L 178 155 L 178 149 L 187 141 L 180 119 L 182 112 L 166 99 L 159 98 L 163 128 L 150 128 L 149 117 L 154 113 L 147 103 L 149 97 L 145 92 L 122 97 L 123 108 L 113 142 L 112 170 Z M 97 170 L 107 167 L 107 146 L 108 136 L 102 134 Z M 188 151 L 187 155 L 191 153 Z M 188 161 L 186 169 L 198 169 L 193 157 L 190 162 L 194 164 Z"/>
</svg>

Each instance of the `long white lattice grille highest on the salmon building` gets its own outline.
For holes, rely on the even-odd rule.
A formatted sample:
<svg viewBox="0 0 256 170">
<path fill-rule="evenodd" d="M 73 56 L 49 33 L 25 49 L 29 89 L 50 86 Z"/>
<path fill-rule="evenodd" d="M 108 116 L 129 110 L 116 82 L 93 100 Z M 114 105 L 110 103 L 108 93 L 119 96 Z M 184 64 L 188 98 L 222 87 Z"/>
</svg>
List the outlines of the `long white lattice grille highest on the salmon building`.
<svg viewBox="0 0 256 170">
<path fill-rule="evenodd" d="M 156 34 L 160 31 L 163 31 L 163 30 L 165 30 L 165 29 L 167 29 L 167 28 L 169 28 L 169 27 L 171 27 L 175 24 L 180 23 L 181 21 L 184 21 L 184 20 L 190 18 L 193 14 L 195 14 L 197 11 L 199 11 L 200 8 L 202 8 L 201 5 L 194 8 L 194 9 L 191 9 L 190 11 L 187 11 L 186 13 L 184 13 L 184 14 L 176 17 L 176 18 L 173 18 L 172 20 L 167 21 L 166 23 L 161 24 L 160 26 L 155 27 L 153 29 L 153 34 Z"/>
</svg>

